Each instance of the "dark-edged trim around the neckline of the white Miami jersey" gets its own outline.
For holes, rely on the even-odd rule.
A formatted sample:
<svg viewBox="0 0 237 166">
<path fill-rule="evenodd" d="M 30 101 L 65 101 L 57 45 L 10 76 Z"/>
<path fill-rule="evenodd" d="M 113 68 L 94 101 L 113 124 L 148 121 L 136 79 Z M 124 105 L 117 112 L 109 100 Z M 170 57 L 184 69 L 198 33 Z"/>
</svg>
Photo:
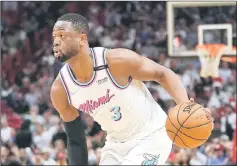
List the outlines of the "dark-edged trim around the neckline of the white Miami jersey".
<svg viewBox="0 0 237 166">
<path fill-rule="evenodd" d="M 93 66 L 93 67 L 96 67 L 96 66 L 97 66 L 97 61 L 96 61 L 96 56 L 95 56 L 94 49 L 93 49 L 93 48 L 90 48 L 90 50 L 91 50 L 91 52 L 92 52 L 92 57 L 93 57 L 93 61 L 94 61 L 94 66 Z M 79 81 L 73 76 L 72 70 L 71 70 L 71 68 L 70 68 L 70 66 L 69 66 L 68 64 L 67 64 L 67 70 L 68 70 L 68 73 L 69 73 L 69 75 L 70 75 L 72 81 L 73 81 L 75 84 L 79 85 L 79 86 L 88 86 L 88 85 L 90 85 L 90 84 L 94 81 L 95 75 L 96 75 L 96 71 L 94 71 L 94 72 L 93 72 L 93 75 L 92 75 L 92 77 L 91 77 L 91 79 L 90 79 L 90 81 L 88 81 L 87 83 L 82 83 L 82 82 L 79 82 Z"/>
</svg>

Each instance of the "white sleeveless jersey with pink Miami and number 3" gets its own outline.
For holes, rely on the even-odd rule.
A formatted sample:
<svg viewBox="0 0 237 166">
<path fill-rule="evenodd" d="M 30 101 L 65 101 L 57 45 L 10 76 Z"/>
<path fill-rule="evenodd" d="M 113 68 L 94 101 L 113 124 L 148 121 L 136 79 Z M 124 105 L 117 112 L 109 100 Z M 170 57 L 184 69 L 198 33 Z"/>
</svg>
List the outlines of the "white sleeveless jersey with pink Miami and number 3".
<svg viewBox="0 0 237 166">
<path fill-rule="evenodd" d="M 108 68 L 106 48 L 91 52 L 96 70 L 88 83 L 79 82 L 68 64 L 60 70 L 69 103 L 90 114 L 107 132 L 107 140 L 126 141 L 162 128 L 166 113 L 146 86 L 132 78 L 126 86 L 119 85 Z"/>
</svg>

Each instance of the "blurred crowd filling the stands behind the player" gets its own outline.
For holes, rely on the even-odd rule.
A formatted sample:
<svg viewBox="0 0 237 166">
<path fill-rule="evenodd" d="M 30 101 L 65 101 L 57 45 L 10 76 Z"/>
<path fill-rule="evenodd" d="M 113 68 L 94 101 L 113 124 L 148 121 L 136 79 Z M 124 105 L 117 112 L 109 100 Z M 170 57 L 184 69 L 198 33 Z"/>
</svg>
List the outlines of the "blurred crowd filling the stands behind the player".
<svg viewBox="0 0 237 166">
<path fill-rule="evenodd" d="M 169 58 L 165 2 L 1 4 L 1 165 L 68 163 L 67 136 L 49 97 L 52 81 L 62 67 L 52 55 L 51 32 L 56 19 L 68 12 L 80 13 L 88 19 L 91 47 L 125 47 L 151 58 L 178 74 L 190 97 L 212 110 L 215 127 L 207 143 L 197 149 L 174 146 L 168 165 L 236 164 L 236 65 L 221 62 L 220 77 L 204 79 L 199 75 L 198 61 L 185 64 L 184 59 Z M 198 23 L 205 14 L 207 21 L 236 20 L 232 7 L 219 15 L 201 12 L 202 16 L 197 17 L 197 13 L 193 14 Z M 176 20 L 176 33 L 184 38 L 181 30 L 189 32 L 196 25 L 185 23 L 188 20 L 187 14 L 179 14 Z M 187 35 L 189 38 L 185 39 L 193 41 L 193 35 Z M 166 112 L 174 106 L 170 95 L 157 83 L 146 85 Z M 98 165 L 106 133 L 87 114 L 82 114 L 82 119 L 89 164 Z"/>
</svg>

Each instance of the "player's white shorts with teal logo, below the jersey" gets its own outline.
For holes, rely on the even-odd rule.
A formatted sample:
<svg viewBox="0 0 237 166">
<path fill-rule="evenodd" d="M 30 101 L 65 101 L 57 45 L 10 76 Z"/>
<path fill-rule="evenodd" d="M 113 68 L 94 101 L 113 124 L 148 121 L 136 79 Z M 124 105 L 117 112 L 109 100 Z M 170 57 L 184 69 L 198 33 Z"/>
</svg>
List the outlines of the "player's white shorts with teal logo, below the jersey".
<svg viewBox="0 0 237 166">
<path fill-rule="evenodd" d="M 164 165 L 171 148 L 172 141 L 163 127 L 146 137 L 124 143 L 106 141 L 100 165 Z"/>
</svg>

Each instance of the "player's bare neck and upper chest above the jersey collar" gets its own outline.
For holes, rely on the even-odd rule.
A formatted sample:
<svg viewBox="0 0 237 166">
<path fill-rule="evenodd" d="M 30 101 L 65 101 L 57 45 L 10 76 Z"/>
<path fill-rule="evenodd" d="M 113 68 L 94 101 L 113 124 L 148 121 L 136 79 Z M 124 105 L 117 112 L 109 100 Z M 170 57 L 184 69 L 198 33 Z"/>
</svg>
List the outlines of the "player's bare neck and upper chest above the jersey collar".
<svg viewBox="0 0 237 166">
<path fill-rule="evenodd" d="M 77 79 L 87 80 L 93 75 L 94 62 L 89 47 L 82 48 L 75 57 L 68 61 L 68 64 Z"/>
</svg>

